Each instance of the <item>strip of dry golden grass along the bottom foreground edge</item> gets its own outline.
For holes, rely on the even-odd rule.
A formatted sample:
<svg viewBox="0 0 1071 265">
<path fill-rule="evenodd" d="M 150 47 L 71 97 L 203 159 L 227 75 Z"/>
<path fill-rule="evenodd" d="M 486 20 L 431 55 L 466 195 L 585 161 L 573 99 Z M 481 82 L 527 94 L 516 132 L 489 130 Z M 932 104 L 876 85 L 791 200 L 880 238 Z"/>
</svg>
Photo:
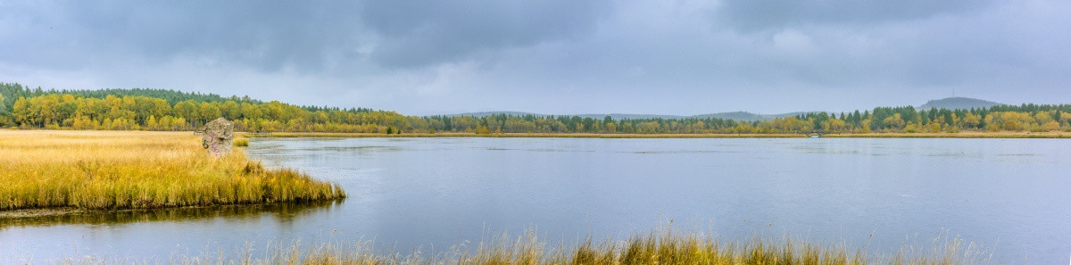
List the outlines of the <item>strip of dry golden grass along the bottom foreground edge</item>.
<svg viewBox="0 0 1071 265">
<path fill-rule="evenodd" d="M 262 254 L 248 249 L 240 258 L 225 254 L 179 256 L 171 264 L 457 264 L 457 265 L 622 265 L 622 264 L 918 264 L 960 265 L 991 264 L 989 250 L 962 239 L 938 236 L 923 245 L 904 244 L 889 254 L 868 253 L 845 245 L 819 245 L 786 236 L 785 239 L 753 238 L 748 241 L 723 241 L 702 233 L 658 232 L 634 236 L 623 241 L 606 240 L 594 244 L 588 239 L 563 247 L 547 247 L 532 233 L 511 239 L 501 237 L 474 246 L 455 246 L 447 252 L 408 254 L 377 251 L 373 243 L 353 245 L 313 245 L 300 243 L 268 248 Z M 280 246 L 280 245 L 276 245 Z M 248 248 L 250 246 L 247 246 Z M 384 254 L 386 253 L 386 254 Z M 137 263 L 132 260 L 82 260 L 79 264 Z"/>
</svg>

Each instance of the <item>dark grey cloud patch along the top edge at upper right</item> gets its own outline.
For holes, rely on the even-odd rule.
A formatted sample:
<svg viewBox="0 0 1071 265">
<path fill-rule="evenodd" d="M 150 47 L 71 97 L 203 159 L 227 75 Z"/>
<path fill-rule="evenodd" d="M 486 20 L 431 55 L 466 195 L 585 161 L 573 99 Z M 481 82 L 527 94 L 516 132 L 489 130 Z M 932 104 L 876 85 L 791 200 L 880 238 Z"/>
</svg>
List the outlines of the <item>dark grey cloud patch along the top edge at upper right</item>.
<svg viewBox="0 0 1071 265">
<path fill-rule="evenodd" d="M 995 0 L 725 0 L 716 9 L 719 22 L 744 31 L 813 24 L 876 24 L 971 12 Z"/>
</svg>

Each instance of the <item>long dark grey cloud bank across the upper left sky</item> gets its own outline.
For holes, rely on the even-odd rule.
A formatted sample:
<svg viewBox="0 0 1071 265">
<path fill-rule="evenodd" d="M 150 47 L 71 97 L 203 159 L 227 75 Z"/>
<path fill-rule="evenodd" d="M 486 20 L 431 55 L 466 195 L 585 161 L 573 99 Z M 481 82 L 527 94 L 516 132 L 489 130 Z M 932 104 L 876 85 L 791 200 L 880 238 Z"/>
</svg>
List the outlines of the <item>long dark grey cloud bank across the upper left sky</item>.
<svg viewBox="0 0 1071 265">
<path fill-rule="evenodd" d="M 4 60 L 63 67 L 95 59 L 86 51 L 110 51 L 304 72 L 351 69 L 369 56 L 380 66 L 422 67 L 565 41 L 590 34 L 598 17 L 612 12 L 605 1 L 569 0 L 44 1 L 11 7 L 4 16 L 18 24 L 6 27 L 20 37 L 0 43 L 19 53 L 0 53 Z"/>
</svg>

